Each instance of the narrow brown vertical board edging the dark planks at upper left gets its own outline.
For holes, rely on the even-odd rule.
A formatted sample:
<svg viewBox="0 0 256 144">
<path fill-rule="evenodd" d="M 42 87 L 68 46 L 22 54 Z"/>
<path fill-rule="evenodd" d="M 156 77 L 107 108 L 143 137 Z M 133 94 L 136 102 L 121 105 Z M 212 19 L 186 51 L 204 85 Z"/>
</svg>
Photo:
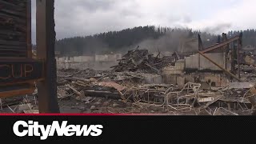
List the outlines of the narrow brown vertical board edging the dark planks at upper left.
<svg viewBox="0 0 256 144">
<path fill-rule="evenodd" d="M 27 0 L 27 4 L 26 4 L 26 45 L 27 45 L 27 58 L 32 58 L 31 0 Z"/>
</svg>

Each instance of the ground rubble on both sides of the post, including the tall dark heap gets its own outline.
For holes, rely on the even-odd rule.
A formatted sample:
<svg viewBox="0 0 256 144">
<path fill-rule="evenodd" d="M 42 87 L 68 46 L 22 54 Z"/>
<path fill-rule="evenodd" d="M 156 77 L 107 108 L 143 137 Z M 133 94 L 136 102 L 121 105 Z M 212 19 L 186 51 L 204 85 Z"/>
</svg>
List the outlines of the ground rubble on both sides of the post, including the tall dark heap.
<svg viewBox="0 0 256 144">
<path fill-rule="evenodd" d="M 256 70 L 241 66 L 244 82 L 211 86 L 195 81 L 163 82 L 168 57 L 154 58 L 146 50 L 129 51 L 113 70 L 58 70 L 58 103 L 62 113 L 250 115 L 256 106 Z M 185 74 L 186 75 L 186 74 Z M 178 81 L 178 79 L 176 79 Z M 34 94 L 4 98 L 2 113 L 38 113 Z"/>
</svg>

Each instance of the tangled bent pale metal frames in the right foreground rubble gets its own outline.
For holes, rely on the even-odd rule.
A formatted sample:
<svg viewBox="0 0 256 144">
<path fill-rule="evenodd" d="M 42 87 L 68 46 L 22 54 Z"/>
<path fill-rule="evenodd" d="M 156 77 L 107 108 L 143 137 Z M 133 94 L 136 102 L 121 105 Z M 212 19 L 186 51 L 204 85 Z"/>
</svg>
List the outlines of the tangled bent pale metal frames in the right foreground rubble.
<svg viewBox="0 0 256 144">
<path fill-rule="evenodd" d="M 163 107 L 166 112 L 170 113 L 238 115 L 233 110 L 242 113 L 248 112 L 248 114 L 254 110 L 254 106 L 256 106 L 254 97 L 251 98 L 249 95 L 250 98 L 247 98 L 248 96 L 246 96 L 248 95 L 246 90 L 250 89 L 250 92 L 255 90 L 252 89 L 253 86 L 254 83 L 238 82 L 230 84 L 225 89 L 202 90 L 201 84 L 188 82 L 182 88 L 138 86 L 127 90 L 129 92 L 126 91 L 125 94 L 129 98 L 133 97 L 137 105 Z M 126 102 L 126 99 L 124 100 Z"/>
</svg>

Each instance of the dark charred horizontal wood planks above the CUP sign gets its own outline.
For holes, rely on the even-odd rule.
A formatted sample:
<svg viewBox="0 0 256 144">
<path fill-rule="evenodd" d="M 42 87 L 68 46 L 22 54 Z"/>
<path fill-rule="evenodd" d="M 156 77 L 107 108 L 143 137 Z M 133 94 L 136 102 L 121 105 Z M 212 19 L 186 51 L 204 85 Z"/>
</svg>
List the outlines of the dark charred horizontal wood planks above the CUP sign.
<svg viewBox="0 0 256 144">
<path fill-rule="evenodd" d="M 30 1 L 0 0 L 0 57 L 26 58 Z"/>
</svg>

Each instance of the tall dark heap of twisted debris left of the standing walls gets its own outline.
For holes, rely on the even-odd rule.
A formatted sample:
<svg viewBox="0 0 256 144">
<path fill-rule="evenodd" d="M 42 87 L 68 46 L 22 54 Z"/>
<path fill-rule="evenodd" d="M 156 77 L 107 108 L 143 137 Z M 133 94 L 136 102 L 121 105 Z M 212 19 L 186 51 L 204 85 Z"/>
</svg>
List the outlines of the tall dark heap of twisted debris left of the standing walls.
<svg viewBox="0 0 256 144">
<path fill-rule="evenodd" d="M 160 53 L 159 53 L 160 54 Z M 169 66 L 173 57 L 154 57 L 148 50 L 129 50 L 122 59 L 118 60 L 118 66 L 112 66 L 114 71 L 138 71 L 159 73 L 162 67 Z"/>
</svg>

